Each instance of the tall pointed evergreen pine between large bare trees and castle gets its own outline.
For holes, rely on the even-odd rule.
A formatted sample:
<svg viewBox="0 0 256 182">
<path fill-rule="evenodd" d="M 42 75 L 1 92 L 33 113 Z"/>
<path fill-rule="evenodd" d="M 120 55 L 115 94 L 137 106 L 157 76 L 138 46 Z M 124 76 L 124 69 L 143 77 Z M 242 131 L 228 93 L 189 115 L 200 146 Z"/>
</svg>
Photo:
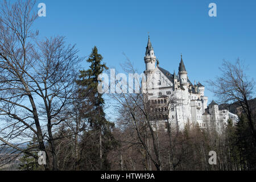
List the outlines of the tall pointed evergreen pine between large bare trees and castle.
<svg viewBox="0 0 256 182">
<path fill-rule="evenodd" d="M 86 60 L 91 65 L 88 70 L 80 71 L 80 80 L 77 80 L 77 85 L 79 85 L 79 96 L 82 98 L 85 106 L 84 111 L 81 113 L 84 118 L 88 119 L 91 127 L 91 131 L 86 132 L 84 137 L 87 138 L 89 135 L 92 138 L 94 136 L 94 142 L 98 140 L 98 151 L 92 151 L 87 155 L 98 155 L 100 157 L 98 160 L 100 163 L 98 168 L 108 169 L 106 156 L 108 151 L 114 146 L 115 141 L 111 133 L 114 123 L 109 122 L 105 118 L 104 98 L 97 90 L 98 84 L 100 84 L 98 76 L 108 69 L 105 63 L 102 64 L 102 60 L 103 57 L 98 53 L 97 47 L 94 46 L 92 53 L 88 60 Z M 92 140 L 90 142 L 92 142 L 92 146 L 96 145 Z M 88 143 L 84 144 L 84 146 L 88 146 Z M 95 149 L 95 147 L 93 148 Z M 90 149 L 92 149 L 92 147 Z M 96 156 L 90 156 L 89 158 L 94 159 L 95 157 Z M 94 161 L 97 161 L 97 157 Z"/>
</svg>

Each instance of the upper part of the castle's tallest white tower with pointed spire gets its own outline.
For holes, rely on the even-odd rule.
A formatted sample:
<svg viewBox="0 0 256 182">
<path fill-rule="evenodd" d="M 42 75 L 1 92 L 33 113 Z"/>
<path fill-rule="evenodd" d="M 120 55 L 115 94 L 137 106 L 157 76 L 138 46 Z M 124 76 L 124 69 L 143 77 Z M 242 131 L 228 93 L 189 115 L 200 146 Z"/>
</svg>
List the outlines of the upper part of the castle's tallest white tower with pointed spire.
<svg viewBox="0 0 256 182">
<path fill-rule="evenodd" d="M 148 35 L 148 43 L 146 47 L 146 56 L 144 57 L 144 61 L 146 64 L 145 73 L 152 72 L 155 69 L 156 56 L 152 44 L 150 42 L 150 36 Z"/>
</svg>

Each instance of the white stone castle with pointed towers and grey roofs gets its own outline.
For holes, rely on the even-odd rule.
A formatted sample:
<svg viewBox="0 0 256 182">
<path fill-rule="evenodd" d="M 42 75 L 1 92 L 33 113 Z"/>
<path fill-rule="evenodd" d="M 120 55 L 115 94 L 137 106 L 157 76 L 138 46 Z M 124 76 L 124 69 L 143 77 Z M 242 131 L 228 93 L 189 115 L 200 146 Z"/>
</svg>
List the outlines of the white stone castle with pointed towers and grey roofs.
<svg viewBox="0 0 256 182">
<path fill-rule="evenodd" d="M 229 110 L 220 110 L 216 102 L 212 101 L 208 105 L 204 85 L 200 82 L 192 84 L 189 81 L 182 55 L 178 74 L 175 71 L 171 74 L 159 66 L 148 37 L 144 63 L 146 80 L 143 80 L 142 89 L 147 93 L 144 101 L 150 110 L 150 121 L 154 123 L 154 129 L 166 129 L 167 121 L 172 128 L 178 130 L 183 130 L 187 123 L 198 125 L 201 129 L 208 126 L 218 126 L 221 129 L 229 118 L 233 123 L 238 121 L 236 114 Z"/>
</svg>

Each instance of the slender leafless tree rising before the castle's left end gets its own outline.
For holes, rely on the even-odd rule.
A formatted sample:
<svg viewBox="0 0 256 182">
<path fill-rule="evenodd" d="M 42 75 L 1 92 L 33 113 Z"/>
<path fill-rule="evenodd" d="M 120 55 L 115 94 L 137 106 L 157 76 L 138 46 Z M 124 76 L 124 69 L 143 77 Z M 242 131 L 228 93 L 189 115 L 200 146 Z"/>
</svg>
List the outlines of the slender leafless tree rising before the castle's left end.
<svg viewBox="0 0 256 182">
<path fill-rule="evenodd" d="M 136 73 L 131 62 L 128 60 L 125 65 L 122 65 L 123 70 L 126 73 Z M 141 80 L 139 77 L 134 78 L 134 83 L 137 85 L 141 85 Z M 122 85 L 119 85 L 118 81 L 115 81 L 117 84 L 117 88 L 121 88 Z M 123 81 L 123 85 L 128 85 L 127 82 Z M 154 131 L 154 127 L 150 122 L 150 108 L 147 106 L 145 98 L 147 94 L 142 93 L 142 88 L 139 86 L 138 88 L 133 88 L 133 86 L 129 85 L 130 90 L 133 90 L 133 93 L 117 93 L 110 94 L 109 96 L 113 98 L 113 100 L 118 103 L 116 105 L 119 114 L 122 115 L 122 118 L 125 119 L 125 123 L 133 128 L 135 134 L 138 138 L 139 144 L 146 152 L 146 156 L 154 163 L 156 170 L 161 169 L 161 160 L 159 155 L 159 147 L 158 147 L 158 138 Z M 154 155 L 151 152 L 151 148 L 147 145 L 147 138 L 152 140 L 152 150 L 154 151 Z M 143 152 L 141 150 L 141 152 Z"/>
</svg>

